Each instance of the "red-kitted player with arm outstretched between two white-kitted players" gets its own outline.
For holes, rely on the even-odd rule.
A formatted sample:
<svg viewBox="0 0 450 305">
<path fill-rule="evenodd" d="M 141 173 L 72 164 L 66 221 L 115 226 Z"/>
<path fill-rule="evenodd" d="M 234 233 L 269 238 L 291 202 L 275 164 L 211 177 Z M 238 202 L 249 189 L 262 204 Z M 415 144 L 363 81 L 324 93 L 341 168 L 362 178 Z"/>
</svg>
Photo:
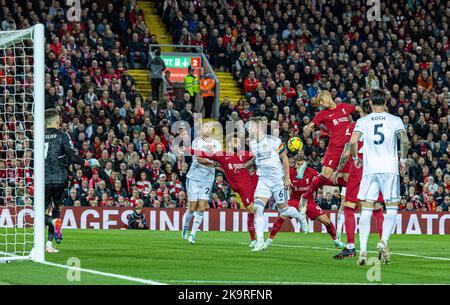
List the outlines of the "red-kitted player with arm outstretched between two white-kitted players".
<svg viewBox="0 0 450 305">
<path fill-rule="evenodd" d="M 255 225 L 253 214 L 253 194 L 258 184 L 256 173 L 250 173 L 248 169 L 237 165 L 245 164 L 253 158 L 253 154 L 241 149 L 240 139 L 234 135 L 227 143 L 227 151 L 208 153 L 190 149 L 191 154 L 210 159 L 215 162 L 216 169 L 224 172 L 231 189 L 241 197 L 244 207 L 248 210 L 247 228 L 250 233 L 251 243 L 249 247 L 256 244 Z M 239 168 L 239 171 L 236 171 Z"/>
</svg>

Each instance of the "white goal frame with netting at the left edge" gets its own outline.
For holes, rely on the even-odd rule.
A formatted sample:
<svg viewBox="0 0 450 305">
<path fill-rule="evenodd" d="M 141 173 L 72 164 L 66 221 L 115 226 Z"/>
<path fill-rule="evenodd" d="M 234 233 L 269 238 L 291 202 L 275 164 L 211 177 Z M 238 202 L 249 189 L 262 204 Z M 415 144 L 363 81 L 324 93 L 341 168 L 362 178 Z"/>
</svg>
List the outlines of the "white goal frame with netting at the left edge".
<svg viewBox="0 0 450 305">
<path fill-rule="evenodd" d="M 0 262 L 44 260 L 44 27 L 0 32 Z"/>
</svg>

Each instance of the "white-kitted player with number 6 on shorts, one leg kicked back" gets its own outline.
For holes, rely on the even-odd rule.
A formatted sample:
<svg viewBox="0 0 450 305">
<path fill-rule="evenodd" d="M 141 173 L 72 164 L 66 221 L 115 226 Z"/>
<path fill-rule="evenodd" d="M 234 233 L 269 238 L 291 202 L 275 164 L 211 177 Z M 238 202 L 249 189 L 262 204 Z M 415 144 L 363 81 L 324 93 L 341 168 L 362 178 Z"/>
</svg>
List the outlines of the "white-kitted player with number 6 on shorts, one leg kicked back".
<svg viewBox="0 0 450 305">
<path fill-rule="evenodd" d="M 300 214 L 294 207 L 288 206 L 289 187 L 289 159 L 285 145 L 277 137 L 267 135 L 267 121 L 262 118 L 252 118 L 249 124 L 250 152 L 255 156 L 244 166 L 256 164 L 258 184 L 255 190 L 255 232 L 256 245 L 252 251 L 266 248 L 264 243 L 264 208 L 273 196 L 278 212 L 282 216 L 297 219 L 304 231 L 307 231 L 307 221 L 304 214 Z"/>
</svg>

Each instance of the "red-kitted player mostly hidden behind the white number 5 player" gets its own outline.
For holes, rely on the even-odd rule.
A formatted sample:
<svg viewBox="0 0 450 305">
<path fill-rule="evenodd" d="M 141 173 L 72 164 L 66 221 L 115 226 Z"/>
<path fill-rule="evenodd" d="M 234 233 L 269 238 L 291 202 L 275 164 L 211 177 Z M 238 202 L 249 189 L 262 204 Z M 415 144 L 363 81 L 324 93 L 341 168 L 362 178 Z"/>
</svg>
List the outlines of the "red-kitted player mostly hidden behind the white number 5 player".
<svg viewBox="0 0 450 305">
<path fill-rule="evenodd" d="M 370 108 L 370 104 L 368 102 L 363 103 L 363 111 L 364 114 L 369 114 L 372 112 L 372 109 Z M 333 258 L 335 259 L 343 259 L 345 257 L 354 257 L 356 255 L 355 250 L 355 210 L 357 205 L 359 204 L 358 200 L 358 191 L 359 191 L 359 183 L 361 182 L 362 178 L 362 167 L 356 167 L 354 162 L 350 159 L 350 138 L 351 134 L 353 133 L 353 129 L 355 129 L 356 122 L 351 123 L 348 127 L 348 130 L 346 132 L 347 136 L 345 144 L 344 151 L 341 154 L 338 167 L 336 171 L 333 173 L 331 180 L 333 182 L 336 182 L 338 177 L 341 175 L 341 173 L 344 171 L 345 167 L 348 167 L 350 165 L 349 173 L 348 173 L 348 180 L 347 180 L 347 186 L 345 191 L 345 197 L 344 197 L 344 203 L 341 205 L 341 209 L 343 209 L 344 216 L 345 216 L 345 231 L 347 234 L 347 246 L 337 255 L 335 255 Z M 360 153 L 362 150 L 363 142 L 359 141 L 358 143 L 358 157 L 362 160 L 363 155 Z M 378 233 L 380 234 L 380 238 L 383 231 L 383 206 L 381 205 L 381 202 L 383 202 L 383 197 L 380 194 L 378 197 L 378 202 L 375 204 L 373 215 L 375 216 L 376 222 L 377 222 L 377 228 Z"/>
</svg>

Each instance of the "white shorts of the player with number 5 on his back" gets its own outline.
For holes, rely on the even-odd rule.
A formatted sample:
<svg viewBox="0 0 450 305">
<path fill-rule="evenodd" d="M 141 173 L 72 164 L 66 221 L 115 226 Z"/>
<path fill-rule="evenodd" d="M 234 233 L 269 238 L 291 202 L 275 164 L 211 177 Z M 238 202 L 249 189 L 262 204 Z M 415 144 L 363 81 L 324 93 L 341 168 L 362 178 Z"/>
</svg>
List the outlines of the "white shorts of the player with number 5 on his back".
<svg viewBox="0 0 450 305">
<path fill-rule="evenodd" d="M 400 176 L 392 173 L 363 176 L 359 185 L 358 199 L 375 202 L 380 191 L 384 202 L 400 201 Z"/>
</svg>

